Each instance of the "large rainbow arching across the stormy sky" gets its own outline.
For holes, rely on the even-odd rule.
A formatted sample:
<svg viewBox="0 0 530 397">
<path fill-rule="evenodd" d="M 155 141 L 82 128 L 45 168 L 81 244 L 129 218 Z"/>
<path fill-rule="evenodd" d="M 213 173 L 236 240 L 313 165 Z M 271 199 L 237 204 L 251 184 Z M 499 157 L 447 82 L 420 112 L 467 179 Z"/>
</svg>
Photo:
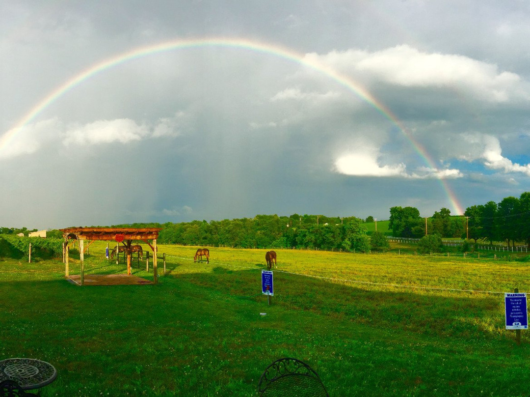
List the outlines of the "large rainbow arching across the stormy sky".
<svg viewBox="0 0 530 397">
<path fill-rule="evenodd" d="M 349 77 L 342 75 L 335 71 L 333 68 L 321 64 L 310 57 L 307 57 L 305 54 L 297 53 L 293 49 L 280 47 L 277 45 L 271 45 L 255 40 L 241 39 L 241 38 L 196 38 L 196 39 L 176 39 L 161 44 L 156 44 L 152 46 L 145 46 L 140 48 L 135 48 L 125 53 L 118 54 L 109 59 L 105 59 L 100 63 L 90 66 L 86 70 L 72 77 L 72 79 L 61 84 L 57 89 L 48 94 L 43 98 L 33 109 L 26 114 L 19 123 L 17 123 L 11 130 L 5 133 L 0 137 L 0 149 L 7 145 L 17 133 L 19 133 L 24 125 L 32 122 L 44 109 L 46 109 L 52 102 L 63 96 L 66 92 L 74 89 L 77 85 L 81 84 L 85 80 L 89 79 L 91 76 L 98 74 L 111 68 L 113 66 L 119 65 L 123 62 L 130 61 L 131 59 L 136 59 L 144 57 L 151 54 L 162 53 L 164 51 L 171 51 L 174 49 L 186 49 L 186 48 L 197 48 L 197 47 L 227 47 L 227 48 L 241 48 L 246 50 L 256 51 L 258 53 L 271 54 L 280 58 L 287 59 L 312 70 L 315 70 L 319 73 L 330 77 L 330 79 L 339 83 L 349 91 L 353 92 L 361 100 L 369 103 L 373 106 L 379 113 L 384 117 L 390 120 L 395 124 L 411 142 L 414 150 L 419 154 L 419 156 L 426 162 L 427 166 L 432 169 L 436 169 L 435 162 L 430 158 L 427 150 L 423 146 L 414 140 L 413 136 L 407 131 L 400 120 L 388 109 L 382 102 L 379 102 L 372 94 L 370 94 L 365 88 L 361 87 L 357 82 L 351 80 Z M 449 198 L 453 206 L 453 210 L 456 214 L 462 214 L 463 210 L 461 205 L 458 203 L 458 200 L 455 194 L 449 188 L 446 180 L 444 178 L 438 178 L 440 184 Z"/>
</svg>

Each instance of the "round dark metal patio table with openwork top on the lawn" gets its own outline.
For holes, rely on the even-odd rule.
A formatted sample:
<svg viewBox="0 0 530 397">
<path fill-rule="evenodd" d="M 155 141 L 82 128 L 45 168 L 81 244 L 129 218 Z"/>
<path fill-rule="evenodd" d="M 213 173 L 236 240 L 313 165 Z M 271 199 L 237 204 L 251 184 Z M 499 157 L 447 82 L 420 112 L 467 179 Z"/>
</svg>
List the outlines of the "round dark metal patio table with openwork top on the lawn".
<svg viewBox="0 0 530 397">
<path fill-rule="evenodd" d="M 46 361 L 8 358 L 0 361 L 0 382 L 11 379 L 23 390 L 39 389 L 55 381 L 57 370 Z"/>
</svg>

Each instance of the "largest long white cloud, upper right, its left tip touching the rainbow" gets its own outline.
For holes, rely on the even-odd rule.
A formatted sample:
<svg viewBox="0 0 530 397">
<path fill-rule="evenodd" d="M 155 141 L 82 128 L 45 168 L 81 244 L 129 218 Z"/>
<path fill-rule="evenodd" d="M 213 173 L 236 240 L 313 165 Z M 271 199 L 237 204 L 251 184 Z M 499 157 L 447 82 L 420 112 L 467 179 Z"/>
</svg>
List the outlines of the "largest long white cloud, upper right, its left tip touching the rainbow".
<svg viewBox="0 0 530 397">
<path fill-rule="evenodd" d="M 467 90 L 491 102 L 529 99 L 516 73 L 498 66 L 453 54 L 425 53 L 400 45 L 370 53 L 349 49 L 325 55 L 307 54 L 309 62 L 329 65 L 359 81 L 384 81 L 404 87 L 448 87 Z"/>
</svg>

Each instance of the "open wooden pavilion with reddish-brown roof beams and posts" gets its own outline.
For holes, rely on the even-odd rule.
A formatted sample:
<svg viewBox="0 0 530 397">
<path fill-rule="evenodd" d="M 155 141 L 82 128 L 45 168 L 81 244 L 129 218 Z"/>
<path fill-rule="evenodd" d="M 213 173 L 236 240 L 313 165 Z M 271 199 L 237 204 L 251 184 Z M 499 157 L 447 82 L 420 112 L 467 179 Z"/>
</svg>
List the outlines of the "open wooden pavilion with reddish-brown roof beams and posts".
<svg viewBox="0 0 530 397">
<path fill-rule="evenodd" d="M 153 275 L 154 283 L 158 282 L 157 274 L 157 260 L 156 260 L 156 239 L 158 238 L 158 232 L 160 228 L 66 228 L 59 229 L 63 232 L 65 239 L 63 257 L 65 258 L 65 276 L 69 276 L 68 269 L 68 240 L 78 240 L 79 242 L 79 255 L 81 261 L 81 285 L 84 282 L 84 241 L 88 240 L 90 246 L 96 240 L 102 241 L 116 241 L 118 244 L 121 243 L 125 246 L 125 252 L 127 254 L 127 274 L 131 275 L 131 243 L 133 240 L 144 241 L 153 251 Z M 149 240 L 152 243 L 149 243 Z"/>
</svg>

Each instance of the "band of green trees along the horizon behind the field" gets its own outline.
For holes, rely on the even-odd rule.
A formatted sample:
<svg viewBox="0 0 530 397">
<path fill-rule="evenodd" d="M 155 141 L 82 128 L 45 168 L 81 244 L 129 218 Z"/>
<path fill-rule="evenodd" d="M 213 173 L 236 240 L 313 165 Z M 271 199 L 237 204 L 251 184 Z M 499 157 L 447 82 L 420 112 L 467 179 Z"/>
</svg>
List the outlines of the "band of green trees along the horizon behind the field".
<svg viewBox="0 0 530 397">
<path fill-rule="evenodd" d="M 366 223 L 373 222 L 356 217 L 326 217 L 325 215 L 256 215 L 254 218 L 224 219 L 221 221 L 192 221 L 181 223 L 132 223 L 111 227 L 158 227 L 161 244 L 198 246 L 227 246 L 237 248 L 310 248 L 341 249 L 367 252 L 386 249 L 388 242 L 382 232 L 368 236 Z M 530 244 L 530 192 L 520 197 L 506 197 L 501 202 L 489 201 L 466 209 L 464 216 L 452 216 L 447 208 L 435 211 L 429 218 L 420 217 L 417 208 L 394 206 L 390 208 L 388 229 L 394 237 L 422 238 L 424 236 L 455 237 Z M 36 229 L 35 229 L 36 230 Z M 0 228 L 0 234 L 15 236 L 27 228 Z M 49 230 L 48 237 L 61 239 L 59 230 Z M 436 244 L 438 244 L 436 240 Z M 3 238 L 2 244 L 15 246 L 12 238 Z M 0 245 L 2 245 L 0 244 Z M 20 244 L 19 244 L 20 245 Z M 25 248 L 25 247 L 24 247 Z M 54 247 L 45 247 L 55 251 Z M 2 251 L 2 250 L 0 250 Z"/>
</svg>

